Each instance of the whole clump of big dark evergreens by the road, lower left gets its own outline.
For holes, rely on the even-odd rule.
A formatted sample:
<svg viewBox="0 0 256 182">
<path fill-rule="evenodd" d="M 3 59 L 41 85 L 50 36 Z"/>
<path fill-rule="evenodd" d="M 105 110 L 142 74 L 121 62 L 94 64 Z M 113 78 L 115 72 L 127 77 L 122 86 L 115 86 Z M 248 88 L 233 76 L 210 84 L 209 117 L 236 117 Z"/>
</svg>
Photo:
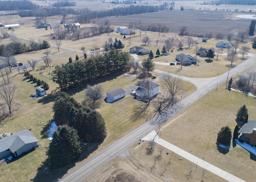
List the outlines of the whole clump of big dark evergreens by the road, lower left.
<svg viewBox="0 0 256 182">
<path fill-rule="evenodd" d="M 79 104 L 65 92 L 55 99 L 52 110 L 58 129 L 54 131 L 47 151 L 50 167 L 62 167 L 78 159 L 80 141 L 98 142 L 106 138 L 102 115 Z"/>
</svg>

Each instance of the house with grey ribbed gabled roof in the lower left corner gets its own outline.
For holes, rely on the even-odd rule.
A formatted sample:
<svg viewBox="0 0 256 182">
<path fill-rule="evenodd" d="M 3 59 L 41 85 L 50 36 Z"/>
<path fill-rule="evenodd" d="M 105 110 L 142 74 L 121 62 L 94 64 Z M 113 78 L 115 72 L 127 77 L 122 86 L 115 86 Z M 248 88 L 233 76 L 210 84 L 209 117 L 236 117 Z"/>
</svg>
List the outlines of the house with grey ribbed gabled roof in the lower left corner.
<svg viewBox="0 0 256 182">
<path fill-rule="evenodd" d="M 4 134 L 2 136 L 0 139 L 0 159 L 4 159 L 11 154 L 18 157 L 22 153 L 38 147 L 38 139 L 28 129 L 24 129 L 18 133 L 11 133 L 11 135 L 6 137 Z"/>
</svg>

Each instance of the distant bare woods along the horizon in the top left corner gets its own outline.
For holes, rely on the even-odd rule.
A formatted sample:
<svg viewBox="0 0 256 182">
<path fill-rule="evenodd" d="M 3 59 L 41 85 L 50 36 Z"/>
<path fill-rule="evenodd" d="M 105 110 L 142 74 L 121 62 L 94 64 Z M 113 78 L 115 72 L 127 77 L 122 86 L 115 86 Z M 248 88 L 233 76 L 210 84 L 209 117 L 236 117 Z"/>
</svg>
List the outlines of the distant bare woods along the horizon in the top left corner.
<svg viewBox="0 0 256 182">
<path fill-rule="evenodd" d="M 39 5 L 30 1 L 0 1 L 0 11 L 36 10 Z"/>
</svg>

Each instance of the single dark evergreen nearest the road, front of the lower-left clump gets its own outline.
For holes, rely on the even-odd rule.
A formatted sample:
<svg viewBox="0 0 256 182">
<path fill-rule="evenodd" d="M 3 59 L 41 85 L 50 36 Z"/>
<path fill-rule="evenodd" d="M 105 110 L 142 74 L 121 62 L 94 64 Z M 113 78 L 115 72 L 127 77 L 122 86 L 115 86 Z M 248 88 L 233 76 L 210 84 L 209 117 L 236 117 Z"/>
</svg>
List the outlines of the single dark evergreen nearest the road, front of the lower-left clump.
<svg viewBox="0 0 256 182">
<path fill-rule="evenodd" d="M 51 168 L 58 168 L 74 162 L 80 157 L 81 146 L 76 129 L 61 125 L 52 135 L 47 156 Z"/>
</svg>

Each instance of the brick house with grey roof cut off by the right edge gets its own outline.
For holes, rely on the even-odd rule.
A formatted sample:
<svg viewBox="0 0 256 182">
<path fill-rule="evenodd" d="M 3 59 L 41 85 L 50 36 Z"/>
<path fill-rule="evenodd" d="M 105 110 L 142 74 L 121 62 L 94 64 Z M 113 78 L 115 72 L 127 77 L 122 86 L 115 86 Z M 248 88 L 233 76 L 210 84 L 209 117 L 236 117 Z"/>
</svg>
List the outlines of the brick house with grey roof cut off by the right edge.
<svg viewBox="0 0 256 182">
<path fill-rule="evenodd" d="M 256 120 L 249 120 L 238 131 L 238 139 L 256 146 Z"/>
</svg>

